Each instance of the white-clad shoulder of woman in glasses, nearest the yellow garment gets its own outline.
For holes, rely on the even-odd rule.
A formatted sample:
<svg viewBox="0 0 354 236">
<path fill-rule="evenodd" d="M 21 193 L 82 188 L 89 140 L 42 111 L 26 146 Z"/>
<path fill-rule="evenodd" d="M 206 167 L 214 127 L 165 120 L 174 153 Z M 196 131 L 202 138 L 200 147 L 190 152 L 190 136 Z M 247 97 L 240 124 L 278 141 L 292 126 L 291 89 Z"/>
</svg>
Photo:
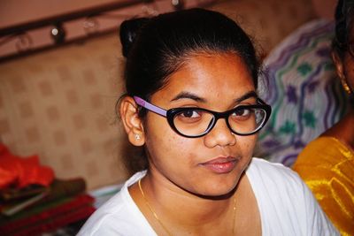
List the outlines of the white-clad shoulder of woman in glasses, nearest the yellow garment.
<svg viewBox="0 0 354 236">
<path fill-rule="evenodd" d="M 253 158 L 246 175 L 264 235 L 337 235 L 310 189 L 289 167 Z"/>
</svg>

